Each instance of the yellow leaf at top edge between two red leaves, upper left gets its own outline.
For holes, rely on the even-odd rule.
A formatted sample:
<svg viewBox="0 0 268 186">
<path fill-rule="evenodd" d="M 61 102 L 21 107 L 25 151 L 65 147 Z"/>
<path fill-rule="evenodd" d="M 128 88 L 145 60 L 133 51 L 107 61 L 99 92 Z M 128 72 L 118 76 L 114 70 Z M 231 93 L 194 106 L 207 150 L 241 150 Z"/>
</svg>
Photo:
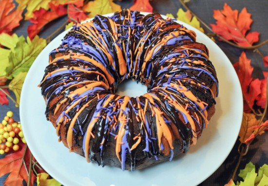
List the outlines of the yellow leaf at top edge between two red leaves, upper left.
<svg viewBox="0 0 268 186">
<path fill-rule="evenodd" d="M 34 17 L 34 11 L 43 8 L 45 10 L 49 9 L 49 2 L 51 0 L 16 0 L 19 3 L 18 10 L 23 10 L 27 6 L 27 12 L 25 13 L 25 20 Z"/>
</svg>

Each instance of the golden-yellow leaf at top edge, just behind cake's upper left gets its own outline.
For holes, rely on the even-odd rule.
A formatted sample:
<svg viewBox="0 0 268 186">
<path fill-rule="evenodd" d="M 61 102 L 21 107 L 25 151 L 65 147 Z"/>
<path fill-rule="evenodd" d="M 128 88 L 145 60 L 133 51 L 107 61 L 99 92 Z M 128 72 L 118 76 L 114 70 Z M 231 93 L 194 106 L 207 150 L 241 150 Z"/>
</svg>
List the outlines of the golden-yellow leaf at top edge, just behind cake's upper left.
<svg viewBox="0 0 268 186">
<path fill-rule="evenodd" d="M 83 6 L 84 12 L 90 12 L 88 18 L 93 18 L 96 15 L 104 15 L 121 11 L 121 6 L 115 4 L 113 0 L 94 0 L 89 1 Z"/>
</svg>

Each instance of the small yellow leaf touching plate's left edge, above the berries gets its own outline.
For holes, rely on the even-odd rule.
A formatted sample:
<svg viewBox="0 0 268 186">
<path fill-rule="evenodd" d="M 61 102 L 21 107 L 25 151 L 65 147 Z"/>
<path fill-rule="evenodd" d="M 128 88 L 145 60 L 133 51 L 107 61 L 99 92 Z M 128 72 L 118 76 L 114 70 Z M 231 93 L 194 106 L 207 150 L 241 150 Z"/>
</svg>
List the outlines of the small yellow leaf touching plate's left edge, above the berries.
<svg viewBox="0 0 268 186">
<path fill-rule="evenodd" d="M 22 89 L 22 84 L 26 77 L 26 72 L 20 72 L 10 83 L 8 84 L 8 88 L 13 91 L 16 95 L 17 103 L 19 104 L 20 93 Z"/>
</svg>

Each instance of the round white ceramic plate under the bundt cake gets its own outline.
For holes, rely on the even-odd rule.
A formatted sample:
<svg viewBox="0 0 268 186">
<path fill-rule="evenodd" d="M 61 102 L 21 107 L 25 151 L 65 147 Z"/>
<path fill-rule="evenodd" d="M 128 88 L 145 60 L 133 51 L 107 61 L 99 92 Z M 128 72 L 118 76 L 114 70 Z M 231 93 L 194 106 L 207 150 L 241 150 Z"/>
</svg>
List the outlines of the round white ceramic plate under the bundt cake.
<svg viewBox="0 0 268 186">
<path fill-rule="evenodd" d="M 110 15 L 111 16 L 111 15 Z M 164 16 L 163 16 L 164 17 Z M 183 23 L 179 21 L 180 23 Z M 49 43 L 36 58 L 23 84 L 20 120 L 27 144 L 39 164 L 65 186 L 194 186 L 208 178 L 226 159 L 237 138 L 242 121 L 242 92 L 237 75 L 223 51 L 206 35 L 194 30 L 197 41 L 206 44 L 219 80 L 216 113 L 196 146 L 172 162 L 143 170 L 122 171 L 115 167 L 88 164 L 82 156 L 69 153 L 57 142 L 56 130 L 45 118 L 45 101 L 37 87 L 48 65 L 48 54 L 57 48 L 67 31 Z M 121 93 L 141 95 L 146 88 L 128 82 Z"/>
</svg>

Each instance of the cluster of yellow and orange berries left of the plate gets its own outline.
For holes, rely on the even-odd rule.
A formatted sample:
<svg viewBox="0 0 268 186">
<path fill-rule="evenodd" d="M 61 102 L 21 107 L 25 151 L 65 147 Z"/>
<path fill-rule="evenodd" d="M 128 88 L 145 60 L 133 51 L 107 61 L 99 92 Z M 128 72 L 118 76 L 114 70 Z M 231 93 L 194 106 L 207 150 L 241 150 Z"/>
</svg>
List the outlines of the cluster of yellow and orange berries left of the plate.
<svg viewBox="0 0 268 186">
<path fill-rule="evenodd" d="M 14 121 L 13 112 L 8 111 L 2 123 L 0 123 L 0 154 L 13 149 L 19 150 L 19 142 L 26 143 L 20 123 Z"/>
</svg>

